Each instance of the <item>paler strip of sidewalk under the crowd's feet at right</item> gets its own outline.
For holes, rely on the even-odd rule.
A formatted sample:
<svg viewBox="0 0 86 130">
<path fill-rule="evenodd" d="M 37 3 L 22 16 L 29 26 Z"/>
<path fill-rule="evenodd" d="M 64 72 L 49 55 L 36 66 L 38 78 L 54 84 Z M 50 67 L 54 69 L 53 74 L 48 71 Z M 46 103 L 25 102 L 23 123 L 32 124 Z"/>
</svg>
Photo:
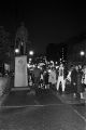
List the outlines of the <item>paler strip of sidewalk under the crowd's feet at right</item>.
<svg viewBox="0 0 86 130">
<path fill-rule="evenodd" d="M 57 98 L 61 100 L 62 103 L 66 104 L 86 104 L 86 100 L 78 100 L 73 96 L 73 94 L 60 94 L 58 92 L 53 92 Z"/>
</svg>

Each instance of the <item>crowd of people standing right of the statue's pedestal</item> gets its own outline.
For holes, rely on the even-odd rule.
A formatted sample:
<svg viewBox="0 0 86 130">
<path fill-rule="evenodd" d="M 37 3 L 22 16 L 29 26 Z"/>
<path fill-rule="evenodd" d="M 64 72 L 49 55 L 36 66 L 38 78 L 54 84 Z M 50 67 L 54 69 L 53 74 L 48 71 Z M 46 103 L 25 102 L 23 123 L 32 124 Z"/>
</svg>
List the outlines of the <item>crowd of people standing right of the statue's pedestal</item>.
<svg viewBox="0 0 86 130">
<path fill-rule="evenodd" d="M 66 66 L 60 63 L 57 67 L 39 67 L 35 65 L 32 72 L 28 73 L 28 81 L 35 89 L 53 89 L 60 90 L 61 93 L 73 93 L 75 98 L 84 99 L 86 88 L 86 66 L 71 65 L 67 70 Z"/>
</svg>

